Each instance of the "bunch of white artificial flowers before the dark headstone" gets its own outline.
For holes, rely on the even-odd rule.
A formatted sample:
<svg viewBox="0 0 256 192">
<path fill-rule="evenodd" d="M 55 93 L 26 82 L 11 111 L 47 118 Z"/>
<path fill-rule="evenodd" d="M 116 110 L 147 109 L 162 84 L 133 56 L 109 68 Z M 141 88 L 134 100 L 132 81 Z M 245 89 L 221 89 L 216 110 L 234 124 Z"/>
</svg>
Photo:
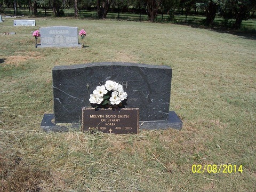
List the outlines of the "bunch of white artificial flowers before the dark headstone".
<svg viewBox="0 0 256 192">
<path fill-rule="evenodd" d="M 127 99 L 123 86 L 114 81 L 106 81 L 105 85 L 97 86 L 90 94 L 90 103 L 93 107 L 122 108 Z"/>
</svg>

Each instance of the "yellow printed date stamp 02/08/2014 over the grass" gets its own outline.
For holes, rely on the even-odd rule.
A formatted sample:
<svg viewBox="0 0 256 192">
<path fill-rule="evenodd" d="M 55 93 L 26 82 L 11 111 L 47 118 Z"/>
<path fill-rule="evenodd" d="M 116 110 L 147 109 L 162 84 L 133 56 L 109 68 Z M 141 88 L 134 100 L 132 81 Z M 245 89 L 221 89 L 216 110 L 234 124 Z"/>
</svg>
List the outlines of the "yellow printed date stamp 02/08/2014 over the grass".
<svg viewBox="0 0 256 192">
<path fill-rule="evenodd" d="M 232 164 L 205 164 L 205 165 L 192 165 L 192 173 L 242 173 L 243 165 L 232 165 Z"/>
</svg>

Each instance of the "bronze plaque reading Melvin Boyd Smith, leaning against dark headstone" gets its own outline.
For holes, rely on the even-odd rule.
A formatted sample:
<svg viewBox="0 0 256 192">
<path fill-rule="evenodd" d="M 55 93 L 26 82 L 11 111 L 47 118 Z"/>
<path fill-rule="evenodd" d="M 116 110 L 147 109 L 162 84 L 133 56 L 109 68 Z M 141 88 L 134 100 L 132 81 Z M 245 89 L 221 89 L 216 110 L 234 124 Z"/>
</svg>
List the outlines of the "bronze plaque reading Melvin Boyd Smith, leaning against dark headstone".
<svg viewBox="0 0 256 192">
<path fill-rule="evenodd" d="M 82 130 L 115 134 L 139 133 L 139 109 L 83 108 Z"/>
</svg>

